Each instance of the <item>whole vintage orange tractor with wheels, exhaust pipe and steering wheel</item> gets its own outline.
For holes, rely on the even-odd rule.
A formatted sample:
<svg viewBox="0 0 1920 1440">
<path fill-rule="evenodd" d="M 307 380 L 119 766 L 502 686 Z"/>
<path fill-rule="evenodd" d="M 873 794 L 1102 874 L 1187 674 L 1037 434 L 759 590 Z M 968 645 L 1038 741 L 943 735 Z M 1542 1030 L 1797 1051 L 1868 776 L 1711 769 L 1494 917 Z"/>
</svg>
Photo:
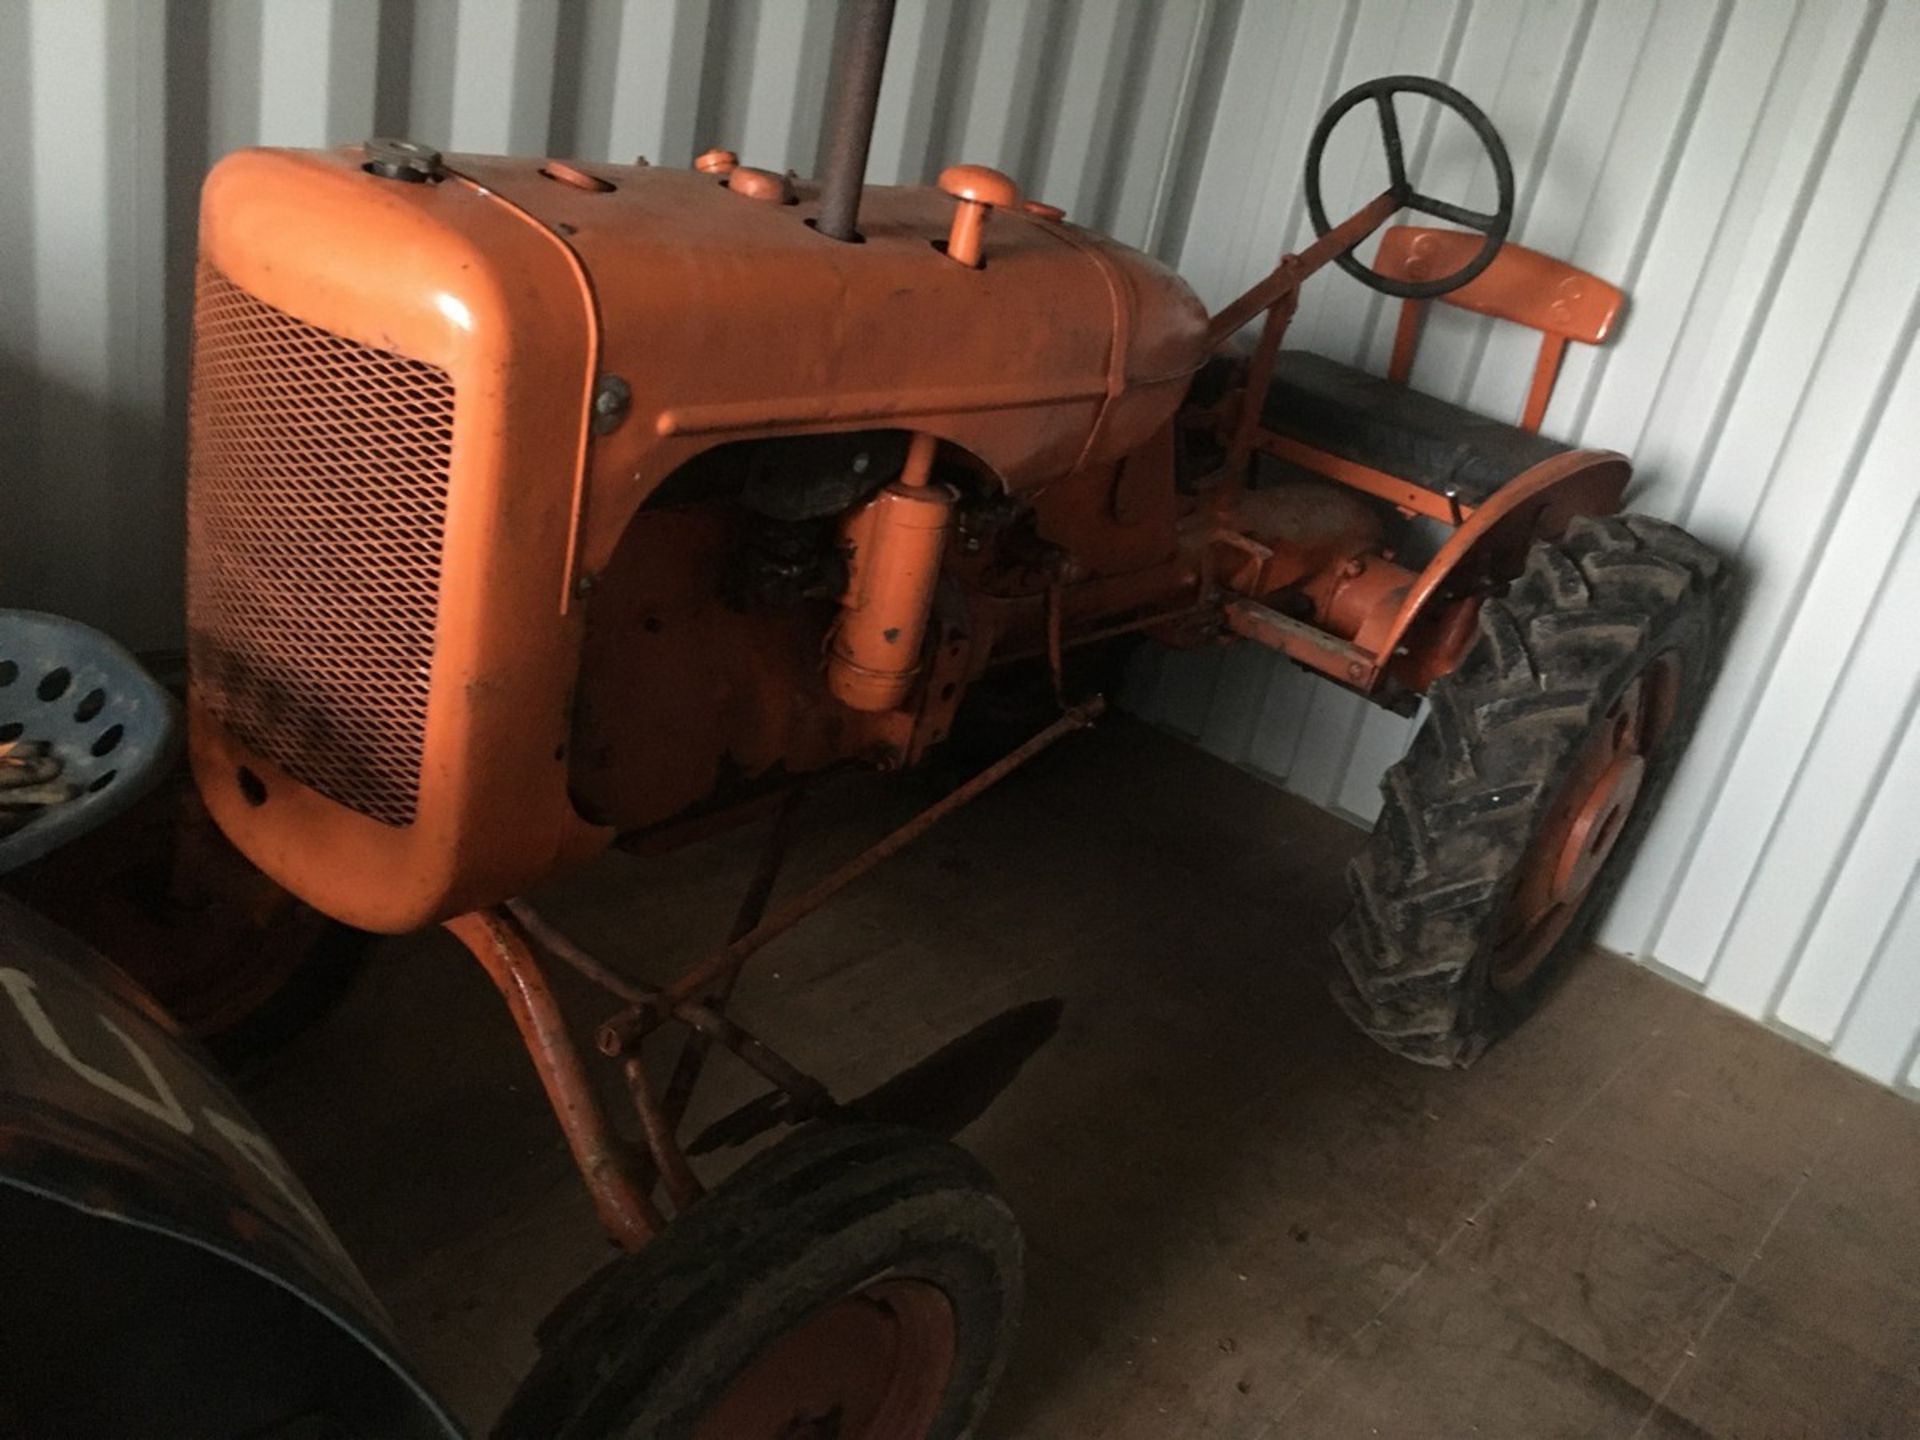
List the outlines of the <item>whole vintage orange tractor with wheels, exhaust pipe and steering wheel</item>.
<svg viewBox="0 0 1920 1440">
<path fill-rule="evenodd" d="M 1334 991 L 1432 1064 L 1471 1060 L 1578 945 L 1711 668 L 1715 557 L 1617 515 L 1624 457 L 1538 434 L 1565 344 L 1603 340 L 1622 298 L 1505 242 L 1513 173 L 1473 102 L 1417 77 L 1342 96 L 1308 157 L 1319 240 L 1208 315 L 996 171 L 862 190 L 889 12 L 843 25 L 818 182 L 720 150 L 666 169 L 372 140 L 242 152 L 205 184 L 198 783 L 303 900 L 474 952 L 632 1252 L 547 1327 L 507 1434 L 972 1432 L 1018 1308 L 1012 1217 L 945 1140 L 831 1123 L 728 1000 L 768 941 L 1091 724 L 1083 653 L 1238 639 L 1425 703 Z M 1492 211 L 1417 188 L 1402 94 L 1467 121 Z M 1321 154 L 1356 108 L 1386 188 L 1329 223 Z M 1402 209 L 1461 228 L 1388 228 L 1363 265 Z M 1384 380 L 1279 348 L 1329 261 L 1405 300 Z M 1404 384 L 1440 298 L 1544 332 L 1519 426 Z M 678 979 L 611 970 L 518 899 L 614 843 L 783 816 L 806 776 L 912 766 L 1020 664 L 1050 676 L 1050 724 L 768 914 L 776 818 L 732 937 Z M 637 1140 L 551 960 L 620 1006 L 593 1039 Z M 707 1194 L 676 1131 L 714 1048 L 799 1129 Z"/>
</svg>

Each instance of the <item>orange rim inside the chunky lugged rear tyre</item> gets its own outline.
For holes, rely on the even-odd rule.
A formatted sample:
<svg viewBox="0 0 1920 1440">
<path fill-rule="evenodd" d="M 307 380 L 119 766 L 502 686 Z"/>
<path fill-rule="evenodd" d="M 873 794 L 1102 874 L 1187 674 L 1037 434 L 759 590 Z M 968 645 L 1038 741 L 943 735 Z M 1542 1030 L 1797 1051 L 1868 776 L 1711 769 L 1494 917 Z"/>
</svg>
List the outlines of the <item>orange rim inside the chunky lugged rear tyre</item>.
<svg viewBox="0 0 1920 1440">
<path fill-rule="evenodd" d="M 1521 860 L 1513 899 L 1501 916 L 1492 966 L 1496 991 L 1513 991 L 1532 979 L 1580 914 L 1626 831 L 1647 762 L 1672 724 L 1678 693 L 1680 655 L 1667 651 L 1634 676 L 1580 745 Z"/>
</svg>

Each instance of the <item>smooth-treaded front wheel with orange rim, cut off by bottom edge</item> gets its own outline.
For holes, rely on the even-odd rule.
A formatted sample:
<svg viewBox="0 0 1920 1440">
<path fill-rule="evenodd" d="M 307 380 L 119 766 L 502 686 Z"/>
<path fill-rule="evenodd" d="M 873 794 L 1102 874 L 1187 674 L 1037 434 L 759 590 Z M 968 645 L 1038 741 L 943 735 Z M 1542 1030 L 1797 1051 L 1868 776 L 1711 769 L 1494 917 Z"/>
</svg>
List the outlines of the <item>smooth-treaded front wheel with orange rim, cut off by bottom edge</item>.
<svg viewBox="0 0 1920 1440">
<path fill-rule="evenodd" d="M 897 1125 L 755 1158 L 549 1321 L 495 1440 L 966 1440 L 1021 1244 L 979 1164 Z"/>
</svg>

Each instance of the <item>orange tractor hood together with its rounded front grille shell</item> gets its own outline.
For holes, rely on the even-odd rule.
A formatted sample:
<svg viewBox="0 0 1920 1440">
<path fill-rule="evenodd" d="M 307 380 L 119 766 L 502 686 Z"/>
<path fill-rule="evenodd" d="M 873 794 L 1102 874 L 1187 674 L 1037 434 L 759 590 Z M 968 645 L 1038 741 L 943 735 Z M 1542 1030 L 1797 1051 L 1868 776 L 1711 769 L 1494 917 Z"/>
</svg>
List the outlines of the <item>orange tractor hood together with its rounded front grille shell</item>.
<svg viewBox="0 0 1920 1440">
<path fill-rule="evenodd" d="M 374 163 L 209 175 L 188 484 L 202 793 L 363 929 L 607 841 L 566 791 L 580 599 L 687 461 L 922 430 L 1035 492 L 1148 440 L 1202 361 L 1175 275 L 1012 207 L 970 269 L 939 190 L 870 190 L 851 244 L 806 225 L 806 186 L 745 192 L 780 177 Z"/>
</svg>

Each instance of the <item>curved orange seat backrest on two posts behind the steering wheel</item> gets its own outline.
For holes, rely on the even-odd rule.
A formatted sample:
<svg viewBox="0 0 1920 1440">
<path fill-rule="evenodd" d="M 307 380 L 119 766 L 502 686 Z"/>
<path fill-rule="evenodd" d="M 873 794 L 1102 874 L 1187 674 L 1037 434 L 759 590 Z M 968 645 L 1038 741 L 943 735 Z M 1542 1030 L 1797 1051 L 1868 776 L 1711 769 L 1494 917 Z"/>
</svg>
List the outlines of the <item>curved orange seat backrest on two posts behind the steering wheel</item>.
<svg viewBox="0 0 1920 1440">
<path fill-rule="evenodd" d="M 1373 269 L 1394 280 L 1432 280 L 1463 267 L 1482 244 L 1484 236 L 1473 230 L 1394 225 L 1380 236 Z M 1532 388 L 1521 413 L 1521 428 L 1538 430 L 1548 415 L 1548 399 L 1553 396 L 1567 342 L 1603 344 L 1620 317 L 1620 307 L 1626 305 L 1626 294 L 1597 275 L 1576 271 L 1567 261 L 1509 240 L 1494 255 L 1492 265 L 1459 290 L 1440 296 L 1440 303 L 1540 330 L 1540 359 L 1534 363 Z M 1400 307 L 1388 380 L 1405 384 L 1413 372 L 1413 349 L 1419 346 L 1425 311 L 1423 300 L 1409 300 Z"/>
</svg>

